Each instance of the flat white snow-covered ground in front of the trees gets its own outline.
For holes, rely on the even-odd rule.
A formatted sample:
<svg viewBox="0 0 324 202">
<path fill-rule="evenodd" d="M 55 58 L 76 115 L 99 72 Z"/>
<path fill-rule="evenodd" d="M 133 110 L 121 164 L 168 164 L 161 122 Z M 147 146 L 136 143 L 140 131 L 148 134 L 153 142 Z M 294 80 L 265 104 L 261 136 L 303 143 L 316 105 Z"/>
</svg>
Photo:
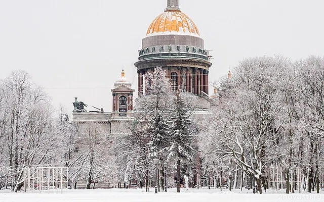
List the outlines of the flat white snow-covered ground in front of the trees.
<svg viewBox="0 0 324 202">
<path fill-rule="evenodd" d="M 159 192 L 154 194 L 154 189 L 145 192 L 145 189 L 95 189 L 95 190 L 64 190 L 62 192 L 52 193 L 12 193 L 0 191 L 0 201 L 2 202 L 76 202 L 76 201 L 127 201 L 127 202 L 175 202 L 175 201 L 324 201 L 324 194 L 252 194 L 251 190 L 246 191 L 228 190 L 220 191 L 209 189 L 181 189 L 181 193 L 176 193 L 175 189 L 169 189 L 168 192 Z M 283 191 L 282 191 L 283 192 Z"/>
</svg>

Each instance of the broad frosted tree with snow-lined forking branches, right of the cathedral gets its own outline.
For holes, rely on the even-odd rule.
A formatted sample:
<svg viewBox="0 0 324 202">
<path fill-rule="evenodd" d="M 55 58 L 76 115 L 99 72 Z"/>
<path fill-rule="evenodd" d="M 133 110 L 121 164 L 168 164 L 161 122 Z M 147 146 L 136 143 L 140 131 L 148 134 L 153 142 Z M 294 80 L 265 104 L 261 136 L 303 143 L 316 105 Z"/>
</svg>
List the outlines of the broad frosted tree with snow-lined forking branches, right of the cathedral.
<svg viewBox="0 0 324 202">
<path fill-rule="evenodd" d="M 266 188 L 265 166 L 271 160 L 266 158 L 266 148 L 282 129 L 276 119 L 283 100 L 278 92 L 284 78 L 281 67 L 277 59 L 269 57 L 242 61 L 231 79 L 223 80 L 224 91 L 219 91 L 219 100 L 206 122 L 212 135 L 200 138 L 235 163 L 237 169 L 231 170 L 255 176 L 260 193 Z"/>
</svg>

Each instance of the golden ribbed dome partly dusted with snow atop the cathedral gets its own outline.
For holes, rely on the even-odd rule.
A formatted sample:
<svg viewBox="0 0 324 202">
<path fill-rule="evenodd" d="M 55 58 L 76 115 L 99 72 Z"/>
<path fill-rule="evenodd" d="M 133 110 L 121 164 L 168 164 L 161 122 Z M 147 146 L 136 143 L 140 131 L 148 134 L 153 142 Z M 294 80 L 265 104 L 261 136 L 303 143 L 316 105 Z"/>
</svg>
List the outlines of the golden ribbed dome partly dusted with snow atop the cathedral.
<svg viewBox="0 0 324 202">
<path fill-rule="evenodd" d="M 166 10 L 157 16 L 148 27 L 146 36 L 166 33 L 199 36 L 198 28 L 194 22 L 179 10 Z"/>
</svg>

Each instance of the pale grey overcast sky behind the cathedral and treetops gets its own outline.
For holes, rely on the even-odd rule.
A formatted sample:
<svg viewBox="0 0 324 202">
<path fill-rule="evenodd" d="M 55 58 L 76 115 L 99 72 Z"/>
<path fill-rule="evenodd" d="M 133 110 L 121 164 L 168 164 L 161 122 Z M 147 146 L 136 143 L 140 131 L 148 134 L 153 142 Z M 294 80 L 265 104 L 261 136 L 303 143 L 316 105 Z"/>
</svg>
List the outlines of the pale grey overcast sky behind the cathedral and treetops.
<svg viewBox="0 0 324 202">
<path fill-rule="evenodd" d="M 0 79 L 26 70 L 53 104 L 73 97 L 111 111 L 124 65 L 137 87 L 137 50 L 167 0 L 0 0 Z M 322 0 L 179 0 L 214 59 L 210 81 L 240 60 L 281 54 L 324 56 Z M 212 92 L 212 89 L 210 89 Z M 136 93 L 137 94 L 137 93 Z"/>
</svg>

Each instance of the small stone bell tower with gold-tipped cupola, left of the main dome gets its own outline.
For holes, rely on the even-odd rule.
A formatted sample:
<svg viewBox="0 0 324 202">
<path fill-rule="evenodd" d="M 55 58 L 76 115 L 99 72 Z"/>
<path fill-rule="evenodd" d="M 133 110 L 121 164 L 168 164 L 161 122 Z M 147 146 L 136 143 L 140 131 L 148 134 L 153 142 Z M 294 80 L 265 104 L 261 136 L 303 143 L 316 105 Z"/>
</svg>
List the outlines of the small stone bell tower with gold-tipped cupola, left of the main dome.
<svg viewBox="0 0 324 202">
<path fill-rule="evenodd" d="M 112 92 L 112 117 L 133 117 L 132 83 L 127 81 L 124 68 L 121 77 L 115 82 Z"/>
</svg>

